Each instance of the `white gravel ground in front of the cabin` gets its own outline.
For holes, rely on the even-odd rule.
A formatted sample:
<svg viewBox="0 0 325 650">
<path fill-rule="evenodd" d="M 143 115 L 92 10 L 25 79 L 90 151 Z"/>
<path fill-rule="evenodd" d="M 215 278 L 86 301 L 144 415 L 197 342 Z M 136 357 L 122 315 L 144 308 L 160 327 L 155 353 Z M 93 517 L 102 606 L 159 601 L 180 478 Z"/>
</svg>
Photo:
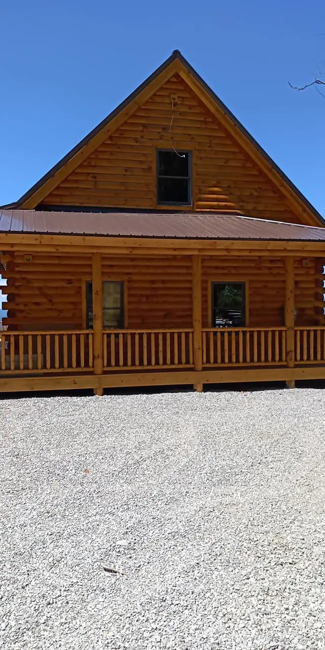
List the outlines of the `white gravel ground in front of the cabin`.
<svg viewBox="0 0 325 650">
<path fill-rule="evenodd" d="M 325 648 L 324 398 L 1 401 L 0 647 Z"/>
</svg>

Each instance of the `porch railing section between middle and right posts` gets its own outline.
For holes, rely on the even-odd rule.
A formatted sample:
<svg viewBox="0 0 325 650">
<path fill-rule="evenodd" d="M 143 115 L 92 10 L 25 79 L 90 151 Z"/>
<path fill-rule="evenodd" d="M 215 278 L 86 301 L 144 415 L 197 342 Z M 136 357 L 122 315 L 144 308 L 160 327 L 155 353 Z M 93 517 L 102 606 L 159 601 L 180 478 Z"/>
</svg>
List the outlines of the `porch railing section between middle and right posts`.
<svg viewBox="0 0 325 650">
<path fill-rule="evenodd" d="M 285 365 L 286 328 L 202 330 L 202 363 L 207 366 Z"/>
</svg>

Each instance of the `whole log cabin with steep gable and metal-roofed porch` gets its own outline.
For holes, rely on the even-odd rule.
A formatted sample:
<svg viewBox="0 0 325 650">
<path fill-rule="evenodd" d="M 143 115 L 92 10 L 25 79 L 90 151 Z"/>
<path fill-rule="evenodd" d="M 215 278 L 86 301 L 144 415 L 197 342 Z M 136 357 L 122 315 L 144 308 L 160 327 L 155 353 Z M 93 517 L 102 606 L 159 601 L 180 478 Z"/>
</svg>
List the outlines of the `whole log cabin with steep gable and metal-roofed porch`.
<svg viewBox="0 0 325 650">
<path fill-rule="evenodd" d="M 0 244 L 1 391 L 325 378 L 324 220 L 179 51 Z"/>
</svg>

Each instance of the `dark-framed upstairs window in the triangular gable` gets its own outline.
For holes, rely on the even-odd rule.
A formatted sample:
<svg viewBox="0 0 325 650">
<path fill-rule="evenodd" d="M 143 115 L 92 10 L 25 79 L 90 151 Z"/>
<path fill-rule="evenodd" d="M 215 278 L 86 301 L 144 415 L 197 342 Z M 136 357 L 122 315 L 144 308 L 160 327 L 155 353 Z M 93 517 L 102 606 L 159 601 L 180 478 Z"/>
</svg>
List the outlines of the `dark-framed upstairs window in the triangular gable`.
<svg viewBox="0 0 325 650">
<path fill-rule="evenodd" d="M 190 151 L 157 150 L 157 203 L 192 205 Z"/>
</svg>

